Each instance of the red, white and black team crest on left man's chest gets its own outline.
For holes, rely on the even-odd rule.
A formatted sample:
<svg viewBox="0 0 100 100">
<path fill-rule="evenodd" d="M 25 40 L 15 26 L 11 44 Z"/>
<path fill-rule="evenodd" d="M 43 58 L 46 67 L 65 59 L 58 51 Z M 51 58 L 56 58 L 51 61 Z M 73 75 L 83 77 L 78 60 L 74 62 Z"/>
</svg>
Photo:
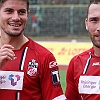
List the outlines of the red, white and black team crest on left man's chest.
<svg viewBox="0 0 100 100">
<path fill-rule="evenodd" d="M 33 59 L 32 62 L 28 63 L 28 71 L 27 74 L 30 76 L 36 76 L 38 69 L 38 63 Z"/>
</svg>

